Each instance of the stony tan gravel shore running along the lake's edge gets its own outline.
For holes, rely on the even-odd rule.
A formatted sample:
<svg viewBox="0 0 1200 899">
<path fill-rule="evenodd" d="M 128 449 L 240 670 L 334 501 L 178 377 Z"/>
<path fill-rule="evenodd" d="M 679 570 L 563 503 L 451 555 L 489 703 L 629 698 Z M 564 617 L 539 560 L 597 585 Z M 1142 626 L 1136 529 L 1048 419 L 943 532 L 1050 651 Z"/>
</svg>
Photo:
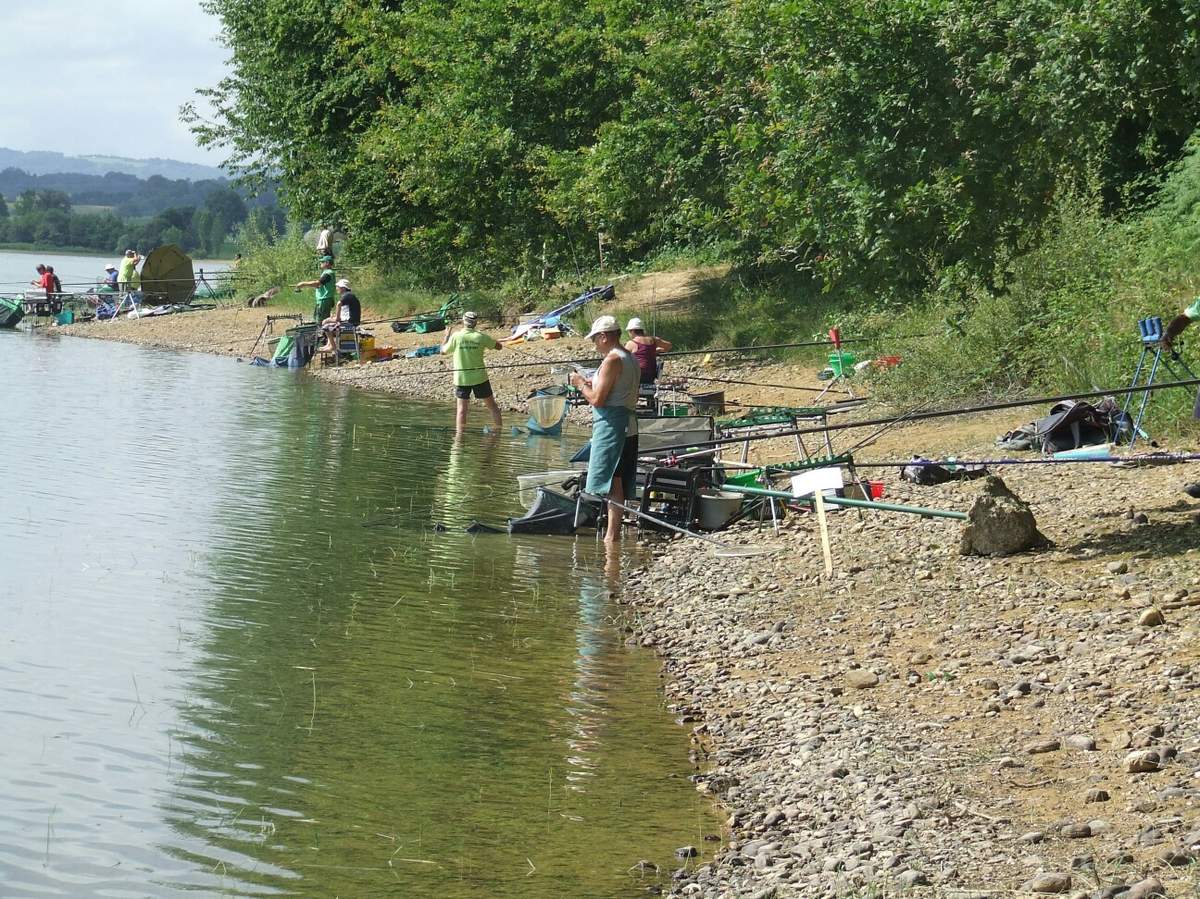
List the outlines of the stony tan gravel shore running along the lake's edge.
<svg viewBox="0 0 1200 899">
<path fill-rule="evenodd" d="M 242 355 L 263 314 L 62 331 Z M 439 336 L 380 342 L 403 350 Z M 529 353 L 577 359 L 590 347 L 563 340 L 490 361 Z M 402 360 L 313 376 L 449 402 L 446 367 Z M 786 365 L 680 370 L 816 384 Z M 550 376 L 493 366 L 492 379 L 502 407 L 523 412 Z M 899 427 L 870 455 L 988 457 L 990 437 L 1021 420 Z M 774 451 L 792 451 L 782 444 Z M 728 811 L 718 859 L 680 862 L 671 894 L 1200 894 L 1200 504 L 1180 492 L 1200 473 L 1069 468 L 1001 472 L 1055 544 L 1007 559 L 961 557 L 958 523 L 898 514 L 830 515 L 828 579 L 808 515 L 778 535 L 769 525 L 720 535 L 774 556 L 649 544 L 650 562 L 624 575 L 625 627 L 660 653 L 667 701 L 692 727 L 696 789 Z M 871 477 L 888 499 L 925 507 L 965 510 L 976 490 L 914 487 L 895 469 Z"/>
</svg>

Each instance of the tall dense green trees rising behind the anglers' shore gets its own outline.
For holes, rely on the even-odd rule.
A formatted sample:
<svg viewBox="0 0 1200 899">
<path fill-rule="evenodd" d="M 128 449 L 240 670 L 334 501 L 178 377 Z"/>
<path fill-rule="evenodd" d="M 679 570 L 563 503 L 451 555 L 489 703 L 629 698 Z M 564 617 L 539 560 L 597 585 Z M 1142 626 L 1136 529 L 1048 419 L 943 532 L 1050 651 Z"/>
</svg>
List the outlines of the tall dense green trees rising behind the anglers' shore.
<svg viewBox="0 0 1200 899">
<path fill-rule="evenodd" d="M 208 0 L 200 139 L 430 280 L 715 245 L 822 287 L 991 278 L 1196 127 L 1195 0 Z"/>
</svg>

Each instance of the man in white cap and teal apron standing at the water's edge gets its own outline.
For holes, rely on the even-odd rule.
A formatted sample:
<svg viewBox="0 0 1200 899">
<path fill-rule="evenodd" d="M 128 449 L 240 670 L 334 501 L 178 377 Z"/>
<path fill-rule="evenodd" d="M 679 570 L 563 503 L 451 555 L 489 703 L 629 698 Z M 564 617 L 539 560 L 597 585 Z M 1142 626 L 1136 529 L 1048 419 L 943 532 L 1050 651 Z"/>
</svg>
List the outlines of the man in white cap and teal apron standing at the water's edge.
<svg viewBox="0 0 1200 899">
<path fill-rule="evenodd" d="M 571 374 L 592 406 L 592 453 L 584 491 L 605 497 L 608 503 L 608 527 L 605 540 L 620 537 L 623 509 L 619 503 L 632 498 L 637 475 L 637 362 L 620 346 L 620 325 L 612 316 L 600 316 L 592 323 L 588 340 L 604 356 L 590 380 L 580 372 Z"/>
</svg>

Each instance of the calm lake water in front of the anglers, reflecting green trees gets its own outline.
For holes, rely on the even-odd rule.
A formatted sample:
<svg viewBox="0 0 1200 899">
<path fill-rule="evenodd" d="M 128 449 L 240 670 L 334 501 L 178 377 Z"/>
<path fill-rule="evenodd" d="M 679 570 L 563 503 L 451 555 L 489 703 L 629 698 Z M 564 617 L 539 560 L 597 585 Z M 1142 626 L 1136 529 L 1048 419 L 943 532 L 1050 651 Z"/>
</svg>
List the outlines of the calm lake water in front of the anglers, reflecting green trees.
<svg viewBox="0 0 1200 899">
<path fill-rule="evenodd" d="M 712 845 L 602 549 L 462 531 L 577 442 L 47 334 L 0 384 L 0 895 L 635 897 Z"/>
</svg>

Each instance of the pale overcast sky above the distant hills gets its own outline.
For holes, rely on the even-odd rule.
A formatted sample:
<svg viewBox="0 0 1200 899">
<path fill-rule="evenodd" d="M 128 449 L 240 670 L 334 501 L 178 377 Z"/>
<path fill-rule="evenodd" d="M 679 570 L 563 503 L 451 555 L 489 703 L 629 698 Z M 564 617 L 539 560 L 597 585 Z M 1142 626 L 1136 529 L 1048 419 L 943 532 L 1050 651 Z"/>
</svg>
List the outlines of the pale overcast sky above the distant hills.
<svg viewBox="0 0 1200 899">
<path fill-rule="evenodd" d="M 4 0 L 0 146 L 220 164 L 179 121 L 228 52 L 197 0 Z"/>
</svg>

